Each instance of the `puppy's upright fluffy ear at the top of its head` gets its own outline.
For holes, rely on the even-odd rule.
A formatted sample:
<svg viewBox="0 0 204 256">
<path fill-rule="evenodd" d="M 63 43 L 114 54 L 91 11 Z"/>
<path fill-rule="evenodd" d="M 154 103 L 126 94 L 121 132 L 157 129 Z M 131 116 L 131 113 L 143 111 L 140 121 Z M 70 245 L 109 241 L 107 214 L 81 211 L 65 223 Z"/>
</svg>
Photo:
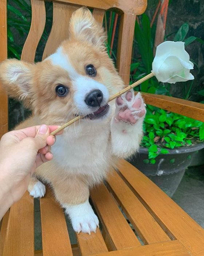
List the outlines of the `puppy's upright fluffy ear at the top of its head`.
<svg viewBox="0 0 204 256">
<path fill-rule="evenodd" d="M 70 39 L 86 41 L 101 49 L 105 48 L 105 33 L 99 26 L 89 9 L 82 7 L 76 10 L 70 19 Z"/>
</svg>

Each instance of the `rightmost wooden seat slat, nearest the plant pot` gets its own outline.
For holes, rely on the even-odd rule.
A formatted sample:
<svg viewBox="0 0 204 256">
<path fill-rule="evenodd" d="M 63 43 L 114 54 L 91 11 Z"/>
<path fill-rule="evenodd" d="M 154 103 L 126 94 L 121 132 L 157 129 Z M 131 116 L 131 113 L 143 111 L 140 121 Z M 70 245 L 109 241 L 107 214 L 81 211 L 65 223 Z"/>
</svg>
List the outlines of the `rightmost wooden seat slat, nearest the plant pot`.
<svg viewBox="0 0 204 256">
<path fill-rule="evenodd" d="M 169 230 L 193 255 L 204 255 L 201 226 L 133 165 L 121 160 L 118 170 L 166 232 Z"/>
</svg>

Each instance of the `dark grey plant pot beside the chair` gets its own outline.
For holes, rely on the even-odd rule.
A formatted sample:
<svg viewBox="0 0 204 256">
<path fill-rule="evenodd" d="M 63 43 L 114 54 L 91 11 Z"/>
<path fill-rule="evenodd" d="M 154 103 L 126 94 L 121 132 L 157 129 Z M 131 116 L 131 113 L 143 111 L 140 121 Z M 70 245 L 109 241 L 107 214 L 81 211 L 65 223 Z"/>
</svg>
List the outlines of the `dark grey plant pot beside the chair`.
<svg viewBox="0 0 204 256">
<path fill-rule="evenodd" d="M 189 147 L 168 149 L 169 154 L 158 155 L 156 163 L 151 164 L 148 162 L 148 148 L 140 147 L 139 154 L 128 161 L 172 197 L 184 176 L 185 169 L 191 164 L 192 157 L 202 148 L 204 142 Z"/>
</svg>

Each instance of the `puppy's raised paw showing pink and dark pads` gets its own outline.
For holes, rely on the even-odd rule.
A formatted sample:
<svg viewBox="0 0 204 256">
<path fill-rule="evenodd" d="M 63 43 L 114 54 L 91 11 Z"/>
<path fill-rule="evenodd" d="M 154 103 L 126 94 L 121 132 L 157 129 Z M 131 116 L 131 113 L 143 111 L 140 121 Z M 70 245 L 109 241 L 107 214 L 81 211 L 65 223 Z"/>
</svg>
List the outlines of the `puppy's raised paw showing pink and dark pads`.
<svg viewBox="0 0 204 256">
<path fill-rule="evenodd" d="M 144 117 L 146 113 L 145 103 L 141 93 L 134 96 L 134 91 L 119 96 L 116 99 L 115 121 L 124 121 L 135 124 L 138 119 Z"/>
</svg>

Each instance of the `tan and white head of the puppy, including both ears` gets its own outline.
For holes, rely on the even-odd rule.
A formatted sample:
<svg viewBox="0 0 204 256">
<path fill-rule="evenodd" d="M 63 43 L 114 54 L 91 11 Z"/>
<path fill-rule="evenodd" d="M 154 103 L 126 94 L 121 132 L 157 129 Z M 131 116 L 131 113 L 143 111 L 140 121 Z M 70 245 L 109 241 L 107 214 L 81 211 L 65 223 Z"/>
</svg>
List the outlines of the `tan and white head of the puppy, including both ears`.
<svg viewBox="0 0 204 256">
<path fill-rule="evenodd" d="M 74 12 L 69 38 L 54 54 L 37 64 L 6 60 L 0 79 L 11 97 L 20 97 L 52 124 L 79 114 L 88 120 L 105 118 L 108 98 L 123 84 L 106 53 L 103 29 L 86 8 Z"/>
</svg>

